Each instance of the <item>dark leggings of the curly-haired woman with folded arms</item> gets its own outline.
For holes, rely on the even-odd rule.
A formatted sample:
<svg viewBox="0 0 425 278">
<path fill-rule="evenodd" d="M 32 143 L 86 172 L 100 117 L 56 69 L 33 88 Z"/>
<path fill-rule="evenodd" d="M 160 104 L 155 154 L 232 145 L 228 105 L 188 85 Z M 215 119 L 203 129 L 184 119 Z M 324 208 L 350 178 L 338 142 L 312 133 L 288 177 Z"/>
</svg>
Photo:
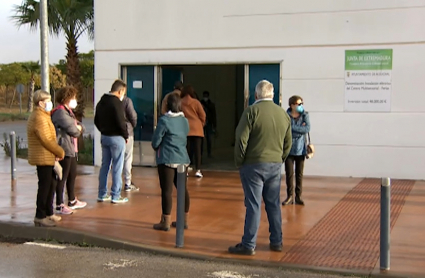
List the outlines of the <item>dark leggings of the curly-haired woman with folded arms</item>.
<svg viewBox="0 0 425 278">
<path fill-rule="evenodd" d="M 68 192 L 68 201 L 75 200 L 75 179 L 77 178 L 77 158 L 66 156 L 61 160 L 60 165 L 62 166 L 62 180 L 57 182 L 56 186 L 56 205 L 63 204 L 63 190 L 65 188 Z"/>
</svg>

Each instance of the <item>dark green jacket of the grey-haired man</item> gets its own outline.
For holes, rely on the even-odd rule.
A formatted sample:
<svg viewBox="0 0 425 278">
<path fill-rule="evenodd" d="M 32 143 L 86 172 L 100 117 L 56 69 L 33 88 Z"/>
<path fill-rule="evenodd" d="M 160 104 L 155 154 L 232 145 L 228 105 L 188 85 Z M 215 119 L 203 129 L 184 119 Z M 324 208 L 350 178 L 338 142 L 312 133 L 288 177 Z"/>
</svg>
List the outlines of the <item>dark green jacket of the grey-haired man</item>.
<svg viewBox="0 0 425 278">
<path fill-rule="evenodd" d="M 257 101 L 242 113 L 236 128 L 237 167 L 255 163 L 283 163 L 291 146 L 288 113 L 272 100 Z"/>
</svg>

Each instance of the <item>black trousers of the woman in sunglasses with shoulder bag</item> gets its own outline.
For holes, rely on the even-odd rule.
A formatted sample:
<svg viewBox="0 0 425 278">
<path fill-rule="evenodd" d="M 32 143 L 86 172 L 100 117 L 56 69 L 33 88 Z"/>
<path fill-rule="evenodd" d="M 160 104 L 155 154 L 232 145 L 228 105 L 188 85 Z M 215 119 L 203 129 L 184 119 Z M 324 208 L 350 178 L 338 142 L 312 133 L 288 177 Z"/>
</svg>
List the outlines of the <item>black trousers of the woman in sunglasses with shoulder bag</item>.
<svg viewBox="0 0 425 278">
<path fill-rule="evenodd" d="M 305 161 L 304 155 L 300 155 L 300 156 L 290 155 L 285 161 L 287 197 L 291 197 L 292 192 L 294 190 L 294 166 L 295 166 L 295 197 L 301 198 L 301 194 L 303 192 L 304 161 Z"/>
</svg>

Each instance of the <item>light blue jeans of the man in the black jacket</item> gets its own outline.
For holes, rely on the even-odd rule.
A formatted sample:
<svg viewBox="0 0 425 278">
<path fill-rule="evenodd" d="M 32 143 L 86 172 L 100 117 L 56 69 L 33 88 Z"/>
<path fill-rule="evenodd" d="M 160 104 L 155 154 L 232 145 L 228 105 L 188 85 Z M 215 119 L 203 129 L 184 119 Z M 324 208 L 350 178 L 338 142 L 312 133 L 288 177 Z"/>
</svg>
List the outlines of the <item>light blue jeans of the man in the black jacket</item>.
<svg viewBox="0 0 425 278">
<path fill-rule="evenodd" d="M 125 140 L 121 136 L 105 136 L 100 139 L 102 145 L 102 166 L 99 171 L 99 193 L 103 198 L 108 193 L 108 175 L 112 163 L 112 187 L 111 197 L 113 200 L 121 197 L 122 169 L 124 165 Z"/>
</svg>

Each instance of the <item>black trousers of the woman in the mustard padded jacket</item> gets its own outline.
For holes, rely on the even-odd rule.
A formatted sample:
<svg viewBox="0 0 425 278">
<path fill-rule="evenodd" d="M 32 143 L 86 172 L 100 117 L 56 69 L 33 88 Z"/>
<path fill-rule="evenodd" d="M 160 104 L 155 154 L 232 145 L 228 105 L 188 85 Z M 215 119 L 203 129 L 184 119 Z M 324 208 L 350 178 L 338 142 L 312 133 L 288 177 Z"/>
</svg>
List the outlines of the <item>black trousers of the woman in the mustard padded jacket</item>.
<svg viewBox="0 0 425 278">
<path fill-rule="evenodd" d="M 53 166 L 37 166 L 38 191 L 35 217 L 39 219 L 53 215 L 53 197 L 56 189 L 56 174 Z"/>
</svg>

